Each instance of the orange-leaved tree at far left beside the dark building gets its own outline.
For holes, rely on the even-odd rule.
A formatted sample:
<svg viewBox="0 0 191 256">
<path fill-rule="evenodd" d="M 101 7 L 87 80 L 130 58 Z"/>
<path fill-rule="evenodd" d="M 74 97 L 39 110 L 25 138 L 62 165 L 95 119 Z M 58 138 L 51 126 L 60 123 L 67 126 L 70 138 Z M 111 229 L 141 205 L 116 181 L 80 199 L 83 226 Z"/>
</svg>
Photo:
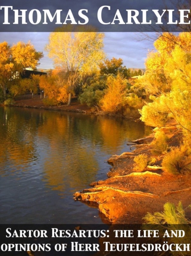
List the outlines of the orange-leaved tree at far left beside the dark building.
<svg viewBox="0 0 191 256">
<path fill-rule="evenodd" d="M 7 42 L 0 43 L 0 87 L 6 96 L 6 88 L 18 84 L 25 68 L 33 70 L 39 65 L 42 52 L 37 52 L 30 42 L 18 42 L 12 47 Z"/>
</svg>

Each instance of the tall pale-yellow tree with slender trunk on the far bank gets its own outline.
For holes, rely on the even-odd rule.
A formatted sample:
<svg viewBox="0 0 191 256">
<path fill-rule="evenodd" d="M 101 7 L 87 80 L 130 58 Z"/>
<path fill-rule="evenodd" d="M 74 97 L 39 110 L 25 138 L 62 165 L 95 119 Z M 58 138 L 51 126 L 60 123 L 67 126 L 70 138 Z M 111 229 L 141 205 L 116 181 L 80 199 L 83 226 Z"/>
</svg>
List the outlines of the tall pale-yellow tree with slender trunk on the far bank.
<svg viewBox="0 0 191 256">
<path fill-rule="evenodd" d="M 97 69 L 104 58 L 103 33 L 97 32 L 52 32 L 45 50 L 53 58 L 55 67 L 67 75 L 68 105 L 79 78 Z M 64 84 L 63 84 L 64 86 Z"/>
</svg>

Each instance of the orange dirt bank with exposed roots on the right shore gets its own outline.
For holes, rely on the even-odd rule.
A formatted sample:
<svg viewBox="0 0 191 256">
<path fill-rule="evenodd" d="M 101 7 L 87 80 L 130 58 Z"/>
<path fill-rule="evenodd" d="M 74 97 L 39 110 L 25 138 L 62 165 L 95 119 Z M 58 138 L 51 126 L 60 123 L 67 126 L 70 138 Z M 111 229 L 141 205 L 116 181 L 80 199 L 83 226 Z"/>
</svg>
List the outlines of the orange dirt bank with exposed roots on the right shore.
<svg viewBox="0 0 191 256">
<path fill-rule="evenodd" d="M 163 128 L 171 137 L 170 146 L 177 146 L 181 141 L 181 132 L 175 127 Z M 92 188 L 76 192 L 75 200 L 89 206 L 97 204 L 103 222 L 115 224 L 141 224 L 147 212 L 163 210 L 163 204 L 182 202 L 186 208 L 190 204 L 191 174 L 170 175 L 158 167 L 148 167 L 143 172 L 133 169 L 134 157 L 145 153 L 151 156 L 154 134 L 138 140 L 133 152 L 112 156 L 108 163 L 113 168 L 108 172 L 108 179 L 90 184 Z M 155 156 L 156 157 L 156 156 Z M 163 156 L 159 155 L 155 165 L 160 166 Z M 191 218 L 191 210 L 185 210 Z"/>
</svg>

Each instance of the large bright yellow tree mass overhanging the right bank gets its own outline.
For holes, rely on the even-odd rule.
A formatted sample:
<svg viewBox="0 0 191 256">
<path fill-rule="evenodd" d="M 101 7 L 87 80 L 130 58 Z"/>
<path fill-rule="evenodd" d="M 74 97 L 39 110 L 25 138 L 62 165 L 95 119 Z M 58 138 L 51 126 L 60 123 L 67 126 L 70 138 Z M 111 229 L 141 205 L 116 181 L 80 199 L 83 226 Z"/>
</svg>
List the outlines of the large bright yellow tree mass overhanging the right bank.
<svg viewBox="0 0 191 256">
<path fill-rule="evenodd" d="M 156 88 L 150 87 L 152 102 L 142 108 L 141 119 L 148 125 L 160 127 L 169 118 L 174 118 L 182 128 L 185 140 L 191 145 L 191 33 L 182 32 L 173 37 L 174 44 L 172 40 L 167 40 L 166 35 L 160 37 L 155 43 L 156 54 L 149 58 L 148 70 L 142 82 L 149 84 L 147 73 L 155 70 L 156 74 L 165 78 L 166 87 L 161 87 L 161 80 L 153 77 Z"/>
</svg>

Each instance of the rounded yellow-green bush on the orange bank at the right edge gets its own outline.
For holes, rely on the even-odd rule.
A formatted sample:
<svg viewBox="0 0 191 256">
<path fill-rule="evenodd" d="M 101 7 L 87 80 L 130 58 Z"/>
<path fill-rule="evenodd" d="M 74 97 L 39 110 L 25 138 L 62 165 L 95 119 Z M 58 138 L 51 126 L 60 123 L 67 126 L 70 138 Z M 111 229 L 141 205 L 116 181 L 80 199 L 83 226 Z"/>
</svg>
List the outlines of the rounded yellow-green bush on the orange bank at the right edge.
<svg viewBox="0 0 191 256">
<path fill-rule="evenodd" d="M 180 174 L 185 171 L 191 171 L 191 155 L 188 154 L 185 146 L 171 148 L 162 161 L 162 167 L 165 172 L 171 174 Z"/>
</svg>

